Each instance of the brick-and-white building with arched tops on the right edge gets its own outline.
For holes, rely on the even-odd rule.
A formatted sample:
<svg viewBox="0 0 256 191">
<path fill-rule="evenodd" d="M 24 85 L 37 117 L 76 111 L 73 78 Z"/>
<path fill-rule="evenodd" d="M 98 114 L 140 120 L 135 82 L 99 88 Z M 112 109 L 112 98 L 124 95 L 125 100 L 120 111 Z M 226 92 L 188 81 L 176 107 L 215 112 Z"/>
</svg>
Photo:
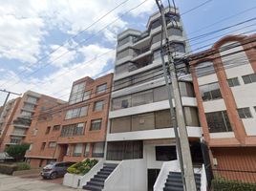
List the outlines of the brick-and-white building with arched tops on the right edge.
<svg viewBox="0 0 256 191">
<path fill-rule="evenodd" d="M 227 35 L 190 57 L 203 138 L 214 168 L 230 179 L 249 180 L 253 174 L 245 171 L 256 170 L 255 40 L 256 34 Z"/>
</svg>

